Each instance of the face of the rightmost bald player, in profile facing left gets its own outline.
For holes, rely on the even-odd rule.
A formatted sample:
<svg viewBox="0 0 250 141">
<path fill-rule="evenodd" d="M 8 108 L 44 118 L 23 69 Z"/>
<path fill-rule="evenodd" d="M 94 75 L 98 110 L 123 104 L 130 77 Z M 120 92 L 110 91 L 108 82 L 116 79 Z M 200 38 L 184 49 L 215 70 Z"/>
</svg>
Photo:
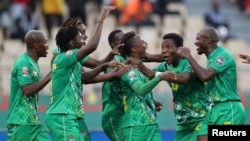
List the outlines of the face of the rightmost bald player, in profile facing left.
<svg viewBox="0 0 250 141">
<path fill-rule="evenodd" d="M 204 36 L 203 32 L 199 32 L 197 35 L 196 35 L 196 41 L 195 41 L 195 46 L 197 47 L 196 50 L 197 50 L 197 53 L 199 55 L 203 54 L 203 53 L 206 53 L 206 50 L 207 50 L 207 37 Z"/>
</svg>

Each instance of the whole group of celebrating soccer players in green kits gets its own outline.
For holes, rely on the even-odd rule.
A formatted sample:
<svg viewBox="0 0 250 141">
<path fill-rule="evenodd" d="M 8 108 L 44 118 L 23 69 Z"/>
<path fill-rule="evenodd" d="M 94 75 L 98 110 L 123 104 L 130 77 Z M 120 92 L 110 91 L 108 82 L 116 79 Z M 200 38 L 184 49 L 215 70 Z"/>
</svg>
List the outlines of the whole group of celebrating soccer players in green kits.
<svg viewBox="0 0 250 141">
<path fill-rule="evenodd" d="M 91 141 L 84 120 L 83 86 L 99 82 L 103 82 L 102 128 L 112 141 L 163 140 L 157 122 L 157 111 L 163 105 L 152 93 L 161 81 L 172 89 L 176 141 L 207 141 L 208 125 L 244 124 L 236 63 L 218 45 L 214 28 L 201 29 L 194 43 L 197 53 L 207 57 L 206 67 L 183 47 L 183 38 L 177 33 L 164 34 L 161 53 L 150 54 L 143 35 L 116 29 L 108 36 L 112 51 L 102 60 L 90 57 L 98 47 L 105 18 L 114 8 L 103 8 L 87 43 L 86 27 L 79 19 L 63 22 L 55 37 L 51 71 L 43 78 L 38 59 L 47 56 L 47 36 L 39 30 L 26 34 L 26 53 L 11 70 L 9 141 Z M 250 64 L 250 56 L 240 54 L 240 58 Z M 159 65 L 148 68 L 145 62 Z M 45 120 L 51 136 L 37 113 L 38 93 L 47 84 L 51 92 Z"/>
</svg>

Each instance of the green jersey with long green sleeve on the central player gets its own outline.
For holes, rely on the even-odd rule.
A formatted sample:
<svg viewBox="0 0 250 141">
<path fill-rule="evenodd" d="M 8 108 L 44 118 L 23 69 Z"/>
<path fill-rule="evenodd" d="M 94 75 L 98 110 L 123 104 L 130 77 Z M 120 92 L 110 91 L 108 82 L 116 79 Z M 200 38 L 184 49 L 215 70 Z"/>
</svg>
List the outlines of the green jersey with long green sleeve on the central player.
<svg viewBox="0 0 250 141">
<path fill-rule="evenodd" d="M 147 82 L 138 69 L 132 69 L 121 77 L 124 115 L 122 127 L 157 124 L 152 89 L 160 82 L 157 76 Z"/>
</svg>

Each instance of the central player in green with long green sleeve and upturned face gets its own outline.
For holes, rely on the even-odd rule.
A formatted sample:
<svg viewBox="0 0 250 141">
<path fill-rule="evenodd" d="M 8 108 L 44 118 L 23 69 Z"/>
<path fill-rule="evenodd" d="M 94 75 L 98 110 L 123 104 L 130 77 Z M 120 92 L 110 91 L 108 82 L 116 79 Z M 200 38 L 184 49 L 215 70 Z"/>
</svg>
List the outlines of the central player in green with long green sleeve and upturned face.
<svg viewBox="0 0 250 141">
<path fill-rule="evenodd" d="M 124 44 L 122 53 L 128 56 L 128 59 L 141 60 L 146 54 L 147 43 L 134 32 L 126 33 L 121 43 Z M 135 68 L 121 77 L 123 108 L 125 111 L 122 118 L 123 140 L 162 140 L 156 120 L 152 89 L 161 80 L 166 79 L 166 73 L 148 80 L 141 70 Z M 174 75 L 170 77 L 174 78 Z"/>
</svg>

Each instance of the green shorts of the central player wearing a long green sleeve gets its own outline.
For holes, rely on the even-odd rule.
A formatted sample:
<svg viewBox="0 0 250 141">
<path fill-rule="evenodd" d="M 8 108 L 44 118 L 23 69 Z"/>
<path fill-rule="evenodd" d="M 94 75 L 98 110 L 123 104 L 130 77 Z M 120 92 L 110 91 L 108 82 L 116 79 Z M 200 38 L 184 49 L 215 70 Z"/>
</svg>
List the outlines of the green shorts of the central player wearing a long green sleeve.
<svg viewBox="0 0 250 141">
<path fill-rule="evenodd" d="M 162 141 L 158 124 L 122 128 L 124 141 Z"/>
</svg>

